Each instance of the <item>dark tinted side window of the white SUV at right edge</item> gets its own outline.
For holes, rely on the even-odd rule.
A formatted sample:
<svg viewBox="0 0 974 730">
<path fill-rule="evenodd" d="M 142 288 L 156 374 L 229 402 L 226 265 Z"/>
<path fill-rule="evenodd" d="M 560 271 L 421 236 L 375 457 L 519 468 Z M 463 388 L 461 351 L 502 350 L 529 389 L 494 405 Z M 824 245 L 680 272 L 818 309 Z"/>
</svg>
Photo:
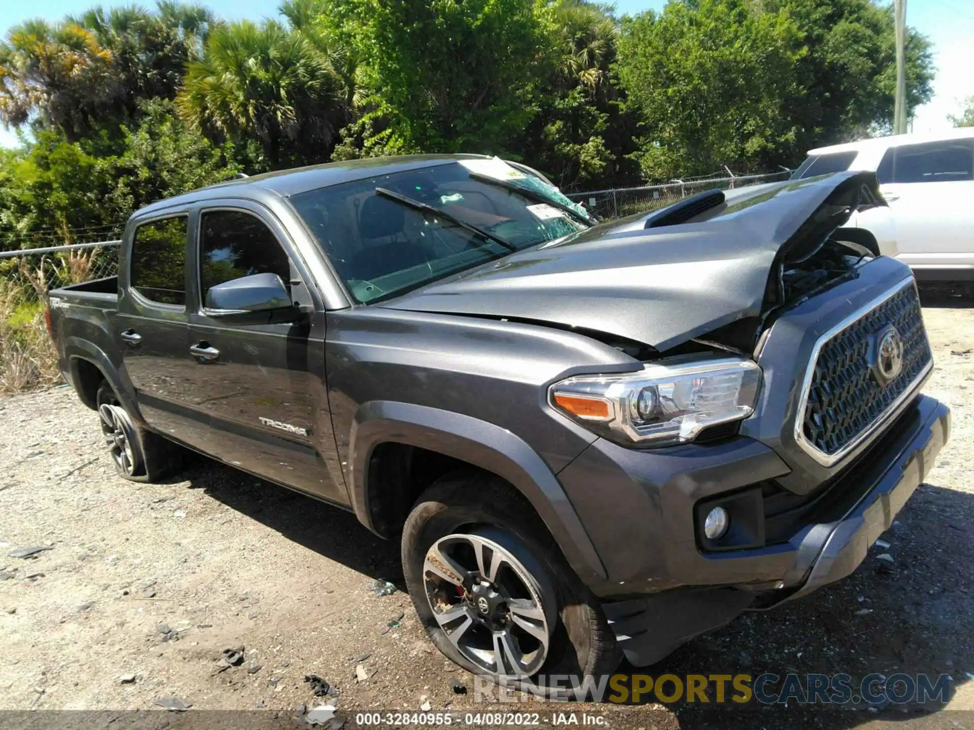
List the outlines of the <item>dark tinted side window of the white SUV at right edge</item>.
<svg viewBox="0 0 974 730">
<path fill-rule="evenodd" d="M 949 139 L 894 147 L 886 152 L 877 176 L 880 183 L 974 180 L 974 139 Z"/>
</svg>

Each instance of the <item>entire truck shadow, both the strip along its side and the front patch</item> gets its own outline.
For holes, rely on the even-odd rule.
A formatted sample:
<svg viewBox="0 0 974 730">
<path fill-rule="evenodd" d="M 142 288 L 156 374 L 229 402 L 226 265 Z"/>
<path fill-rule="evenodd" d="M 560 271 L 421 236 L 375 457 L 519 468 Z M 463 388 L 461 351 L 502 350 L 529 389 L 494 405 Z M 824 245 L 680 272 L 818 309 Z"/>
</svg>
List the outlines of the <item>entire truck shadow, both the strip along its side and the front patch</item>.
<svg viewBox="0 0 974 730">
<path fill-rule="evenodd" d="M 393 581 L 401 588 L 398 543 L 377 537 L 358 524 L 355 516 L 337 507 L 263 482 L 236 469 L 200 459 L 182 477 L 191 489 L 206 494 L 241 514 L 275 529 L 319 555 L 373 578 Z M 627 675 L 851 675 L 858 690 L 861 679 L 873 673 L 951 675 L 955 696 L 974 675 L 974 494 L 921 485 L 882 535 L 888 548 L 874 546 L 869 557 L 848 578 L 803 600 L 768 612 L 746 613 L 729 626 L 693 639 L 662 662 L 636 668 L 623 663 Z M 886 553 L 892 563 L 879 559 Z M 866 722 L 912 721 L 920 727 L 955 727 L 938 713 L 943 706 L 928 703 L 889 704 L 879 712 L 859 706 L 831 710 L 822 705 L 797 707 L 794 701 L 765 706 L 684 700 L 667 705 L 668 712 L 636 712 L 625 717 L 608 712 L 614 726 L 661 728 L 852 728 Z M 768 685 L 778 692 L 781 682 Z M 966 688 L 965 695 L 970 688 Z M 727 696 L 732 695 L 730 684 Z M 643 702 L 655 702 L 652 694 Z M 967 703 L 969 706 L 970 703 Z M 589 706 L 591 707 L 591 706 Z M 658 707 L 658 706 L 656 706 Z M 571 708 L 566 708 L 570 710 Z M 952 716 L 955 715 L 951 712 Z M 640 719 L 642 718 L 642 719 Z M 649 722 L 652 720 L 652 722 Z M 966 725 L 965 725 L 966 726 Z"/>
</svg>

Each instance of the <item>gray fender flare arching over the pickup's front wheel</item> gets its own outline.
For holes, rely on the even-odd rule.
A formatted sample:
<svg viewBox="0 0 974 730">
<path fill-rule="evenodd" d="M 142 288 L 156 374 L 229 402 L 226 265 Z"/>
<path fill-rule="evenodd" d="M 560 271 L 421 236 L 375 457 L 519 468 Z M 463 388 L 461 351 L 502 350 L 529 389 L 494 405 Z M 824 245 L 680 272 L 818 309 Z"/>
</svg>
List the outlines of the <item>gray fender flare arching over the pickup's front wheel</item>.
<svg viewBox="0 0 974 730">
<path fill-rule="evenodd" d="M 373 529 L 368 463 L 385 442 L 453 456 L 506 479 L 531 502 L 584 582 L 607 578 L 568 495 L 534 449 L 506 428 L 429 406 L 369 401 L 358 408 L 349 440 L 350 481 L 352 506 L 365 527 Z"/>
</svg>

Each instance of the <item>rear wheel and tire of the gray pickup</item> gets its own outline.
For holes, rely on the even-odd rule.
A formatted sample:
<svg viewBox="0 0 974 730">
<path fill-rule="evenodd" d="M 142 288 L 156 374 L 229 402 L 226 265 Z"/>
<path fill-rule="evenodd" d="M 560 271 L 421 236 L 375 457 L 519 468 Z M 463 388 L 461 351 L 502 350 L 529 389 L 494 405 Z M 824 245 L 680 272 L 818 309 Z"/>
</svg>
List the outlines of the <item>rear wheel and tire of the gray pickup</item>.
<svg viewBox="0 0 974 730">
<path fill-rule="evenodd" d="M 130 482 L 156 482 L 182 468 L 184 450 L 133 419 L 108 381 L 98 385 L 95 406 L 120 477 Z"/>
</svg>

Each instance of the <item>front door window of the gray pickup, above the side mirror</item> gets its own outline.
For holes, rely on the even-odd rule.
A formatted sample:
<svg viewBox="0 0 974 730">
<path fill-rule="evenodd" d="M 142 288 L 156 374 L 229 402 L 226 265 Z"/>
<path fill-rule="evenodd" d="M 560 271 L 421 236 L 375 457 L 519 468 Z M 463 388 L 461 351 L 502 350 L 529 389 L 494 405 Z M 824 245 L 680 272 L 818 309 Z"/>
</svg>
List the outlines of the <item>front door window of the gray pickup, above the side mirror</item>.
<svg viewBox="0 0 974 730">
<path fill-rule="evenodd" d="M 243 210 L 204 211 L 200 221 L 200 293 L 251 274 L 278 274 L 290 281 L 290 261 L 278 237 Z"/>
</svg>

